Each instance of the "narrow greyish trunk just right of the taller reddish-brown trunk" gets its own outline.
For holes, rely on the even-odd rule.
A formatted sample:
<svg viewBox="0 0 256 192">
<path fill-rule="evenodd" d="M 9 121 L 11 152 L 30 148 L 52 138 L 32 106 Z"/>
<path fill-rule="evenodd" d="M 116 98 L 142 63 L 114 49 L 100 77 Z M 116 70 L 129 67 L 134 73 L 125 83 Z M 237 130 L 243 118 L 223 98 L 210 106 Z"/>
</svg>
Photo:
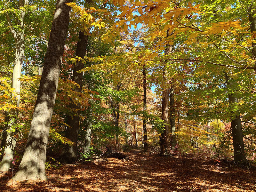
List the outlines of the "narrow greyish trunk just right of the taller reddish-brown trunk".
<svg viewBox="0 0 256 192">
<path fill-rule="evenodd" d="M 170 88 L 170 125 L 171 125 L 171 136 L 170 136 L 170 144 L 171 149 L 174 150 L 176 146 L 176 136 L 175 134 L 175 100 L 174 100 L 174 89 L 173 86 Z"/>
</svg>

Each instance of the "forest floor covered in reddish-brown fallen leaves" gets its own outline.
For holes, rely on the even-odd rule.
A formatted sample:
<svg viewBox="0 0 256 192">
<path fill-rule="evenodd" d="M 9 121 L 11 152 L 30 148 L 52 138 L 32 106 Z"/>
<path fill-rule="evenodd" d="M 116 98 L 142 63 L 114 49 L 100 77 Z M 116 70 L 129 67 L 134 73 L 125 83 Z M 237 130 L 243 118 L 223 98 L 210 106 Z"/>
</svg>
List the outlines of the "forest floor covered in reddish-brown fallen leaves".
<svg viewBox="0 0 256 192">
<path fill-rule="evenodd" d="M 134 149 L 130 160 L 61 166 L 49 169 L 47 181 L 14 184 L 12 172 L 0 174 L 0 191 L 148 192 L 256 191 L 256 169 L 217 165 L 213 161 L 179 156 L 143 155 Z"/>
</svg>

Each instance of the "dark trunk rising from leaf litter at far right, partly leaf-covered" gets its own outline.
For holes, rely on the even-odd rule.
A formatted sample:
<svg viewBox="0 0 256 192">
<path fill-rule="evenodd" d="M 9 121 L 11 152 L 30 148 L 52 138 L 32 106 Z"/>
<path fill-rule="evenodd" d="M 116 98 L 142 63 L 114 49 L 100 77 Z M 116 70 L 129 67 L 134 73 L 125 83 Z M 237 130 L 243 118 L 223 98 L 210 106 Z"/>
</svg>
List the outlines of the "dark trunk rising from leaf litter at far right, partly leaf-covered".
<svg viewBox="0 0 256 192">
<path fill-rule="evenodd" d="M 225 73 L 225 76 L 227 85 L 232 88 L 232 79 L 230 79 L 227 73 Z M 229 94 L 228 100 L 231 104 L 238 103 L 238 99 L 235 94 Z M 234 146 L 234 162 L 239 164 L 246 164 L 247 161 L 244 153 L 244 140 L 240 115 L 236 115 L 235 118 L 231 117 L 231 130 Z"/>
</svg>

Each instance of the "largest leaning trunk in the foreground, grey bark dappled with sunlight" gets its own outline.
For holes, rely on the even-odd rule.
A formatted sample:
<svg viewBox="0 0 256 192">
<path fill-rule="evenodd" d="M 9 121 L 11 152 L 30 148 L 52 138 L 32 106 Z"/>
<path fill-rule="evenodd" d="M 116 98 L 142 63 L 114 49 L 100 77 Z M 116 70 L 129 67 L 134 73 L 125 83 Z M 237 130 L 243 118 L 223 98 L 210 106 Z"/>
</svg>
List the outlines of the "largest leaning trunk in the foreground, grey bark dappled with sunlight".
<svg viewBox="0 0 256 192">
<path fill-rule="evenodd" d="M 60 67 L 72 0 L 58 0 L 24 156 L 13 180 L 46 180 L 45 158 L 50 123 L 58 88 Z"/>
</svg>

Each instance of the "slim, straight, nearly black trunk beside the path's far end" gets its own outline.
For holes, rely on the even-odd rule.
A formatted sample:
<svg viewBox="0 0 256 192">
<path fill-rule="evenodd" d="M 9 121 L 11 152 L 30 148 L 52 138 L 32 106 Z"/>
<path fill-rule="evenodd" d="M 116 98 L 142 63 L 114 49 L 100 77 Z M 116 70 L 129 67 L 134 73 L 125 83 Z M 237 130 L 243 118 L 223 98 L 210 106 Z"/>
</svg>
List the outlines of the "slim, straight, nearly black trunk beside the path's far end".
<svg viewBox="0 0 256 192">
<path fill-rule="evenodd" d="M 146 68 L 143 66 L 143 111 L 147 112 L 147 85 L 146 85 Z M 144 152 L 148 151 L 148 133 L 147 133 L 147 119 L 143 117 L 143 141 Z"/>
</svg>

